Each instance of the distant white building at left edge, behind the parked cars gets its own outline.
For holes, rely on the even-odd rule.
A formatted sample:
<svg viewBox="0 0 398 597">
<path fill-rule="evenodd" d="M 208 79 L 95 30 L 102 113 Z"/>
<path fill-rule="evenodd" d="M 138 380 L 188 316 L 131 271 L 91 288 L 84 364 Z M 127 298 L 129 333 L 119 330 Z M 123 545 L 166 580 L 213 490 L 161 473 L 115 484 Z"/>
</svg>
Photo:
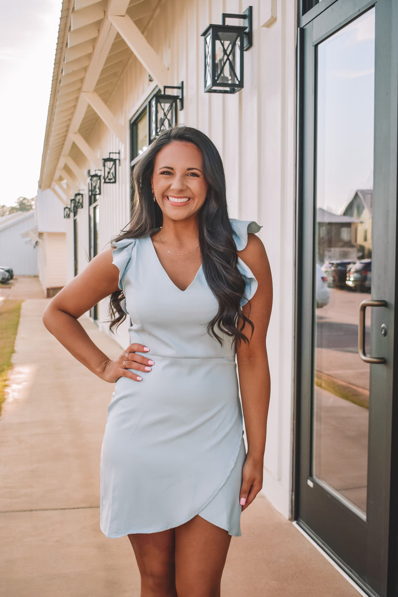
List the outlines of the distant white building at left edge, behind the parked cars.
<svg viewBox="0 0 398 597">
<path fill-rule="evenodd" d="M 14 275 L 38 275 L 35 244 L 26 237 L 33 226 L 34 211 L 17 211 L 0 218 L 0 265 L 12 267 Z"/>
</svg>

